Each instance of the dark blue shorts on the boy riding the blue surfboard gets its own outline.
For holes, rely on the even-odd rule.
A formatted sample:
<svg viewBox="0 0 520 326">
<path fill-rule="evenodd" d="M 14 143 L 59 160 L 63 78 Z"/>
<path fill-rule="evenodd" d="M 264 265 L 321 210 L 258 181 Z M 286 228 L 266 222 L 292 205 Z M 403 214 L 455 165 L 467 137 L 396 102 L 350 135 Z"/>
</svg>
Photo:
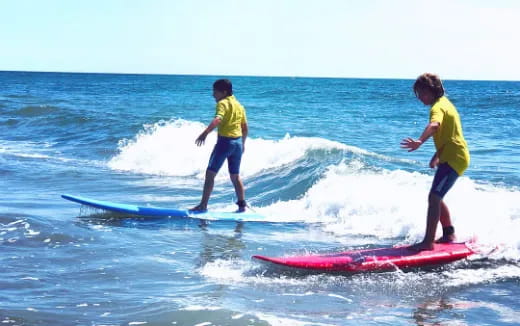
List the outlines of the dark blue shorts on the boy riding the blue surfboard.
<svg viewBox="0 0 520 326">
<path fill-rule="evenodd" d="M 229 174 L 238 174 L 242 160 L 242 137 L 229 138 L 219 135 L 209 158 L 208 170 L 217 173 L 226 159 Z"/>
</svg>

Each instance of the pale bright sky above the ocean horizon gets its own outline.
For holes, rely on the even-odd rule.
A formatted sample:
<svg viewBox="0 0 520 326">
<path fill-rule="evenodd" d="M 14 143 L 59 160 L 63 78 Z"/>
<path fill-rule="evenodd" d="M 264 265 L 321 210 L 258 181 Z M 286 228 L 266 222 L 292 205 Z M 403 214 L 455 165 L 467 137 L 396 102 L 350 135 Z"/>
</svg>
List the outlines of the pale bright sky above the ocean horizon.
<svg viewBox="0 0 520 326">
<path fill-rule="evenodd" d="M 520 80 L 516 0 L 0 0 L 0 70 Z"/>
</svg>

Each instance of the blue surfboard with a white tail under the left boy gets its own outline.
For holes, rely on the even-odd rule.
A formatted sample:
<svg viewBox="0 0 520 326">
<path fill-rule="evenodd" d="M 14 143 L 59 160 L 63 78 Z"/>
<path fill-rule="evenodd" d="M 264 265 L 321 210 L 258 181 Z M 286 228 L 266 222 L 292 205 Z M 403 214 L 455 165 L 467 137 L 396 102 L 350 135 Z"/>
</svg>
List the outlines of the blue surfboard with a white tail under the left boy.
<svg viewBox="0 0 520 326">
<path fill-rule="evenodd" d="M 207 211 L 203 213 L 190 212 L 185 209 L 162 208 L 153 206 L 137 206 L 131 204 L 113 203 L 104 200 L 90 199 L 80 196 L 61 195 L 62 198 L 72 202 L 102 209 L 109 212 L 131 214 L 137 216 L 153 217 L 189 217 L 203 220 L 227 220 L 227 221 L 265 221 L 265 217 L 253 212 L 217 212 Z"/>
</svg>

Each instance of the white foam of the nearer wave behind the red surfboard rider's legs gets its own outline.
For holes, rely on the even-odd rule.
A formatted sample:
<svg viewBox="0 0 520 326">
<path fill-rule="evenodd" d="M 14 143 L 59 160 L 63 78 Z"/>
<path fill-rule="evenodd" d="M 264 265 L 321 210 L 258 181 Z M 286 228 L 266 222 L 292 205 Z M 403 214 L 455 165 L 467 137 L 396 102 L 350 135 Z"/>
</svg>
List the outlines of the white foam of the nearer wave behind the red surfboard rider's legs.
<svg viewBox="0 0 520 326">
<path fill-rule="evenodd" d="M 402 170 L 360 169 L 360 162 L 330 166 L 302 198 L 281 201 L 263 214 L 283 211 L 308 222 L 324 222 L 324 230 L 379 239 L 422 238 L 432 176 Z M 461 240 L 500 245 L 507 258 L 520 257 L 520 192 L 479 185 L 462 177 L 445 197 Z M 441 232 L 440 228 L 438 232 Z M 509 250 L 508 250 L 509 248 Z"/>
</svg>

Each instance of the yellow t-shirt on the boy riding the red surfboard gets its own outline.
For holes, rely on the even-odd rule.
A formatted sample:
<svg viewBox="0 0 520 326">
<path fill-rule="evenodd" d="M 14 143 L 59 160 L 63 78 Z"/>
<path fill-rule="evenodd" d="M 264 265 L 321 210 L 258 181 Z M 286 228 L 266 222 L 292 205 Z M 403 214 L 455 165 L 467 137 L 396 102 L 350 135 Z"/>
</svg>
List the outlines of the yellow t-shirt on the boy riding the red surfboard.
<svg viewBox="0 0 520 326">
<path fill-rule="evenodd" d="M 470 161 L 468 144 L 462 134 L 459 113 L 446 96 L 439 98 L 431 107 L 430 122 L 440 123 L 433 135 L 435 148 L 441 150 L 439 163 L 447 162 L 462 175 Z"/>
</svg>

